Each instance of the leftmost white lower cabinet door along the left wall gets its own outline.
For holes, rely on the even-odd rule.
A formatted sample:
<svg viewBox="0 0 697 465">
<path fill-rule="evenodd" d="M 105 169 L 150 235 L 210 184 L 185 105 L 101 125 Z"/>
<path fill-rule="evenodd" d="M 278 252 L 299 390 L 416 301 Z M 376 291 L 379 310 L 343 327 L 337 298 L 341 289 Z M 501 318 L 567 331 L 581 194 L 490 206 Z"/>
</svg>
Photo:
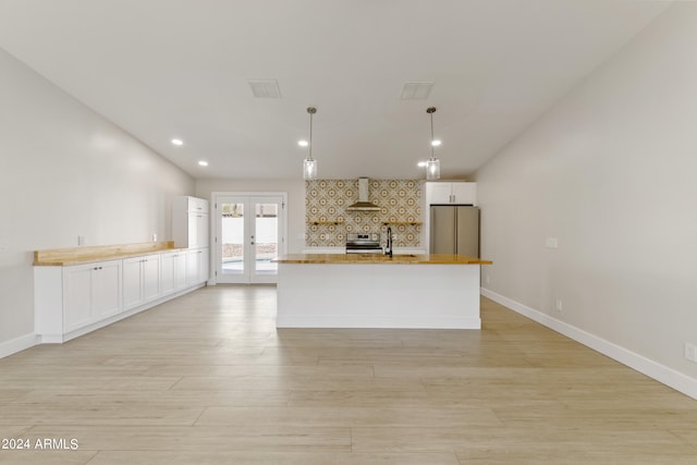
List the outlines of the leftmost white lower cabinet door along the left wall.
<svg viewBox="0 0 697 465">
<path fill-rule="evenodd" d="M 70 332 L 91 320 L 91 272 L 94 265 L 63 269 L 63 331 Z"/>
</svg>

